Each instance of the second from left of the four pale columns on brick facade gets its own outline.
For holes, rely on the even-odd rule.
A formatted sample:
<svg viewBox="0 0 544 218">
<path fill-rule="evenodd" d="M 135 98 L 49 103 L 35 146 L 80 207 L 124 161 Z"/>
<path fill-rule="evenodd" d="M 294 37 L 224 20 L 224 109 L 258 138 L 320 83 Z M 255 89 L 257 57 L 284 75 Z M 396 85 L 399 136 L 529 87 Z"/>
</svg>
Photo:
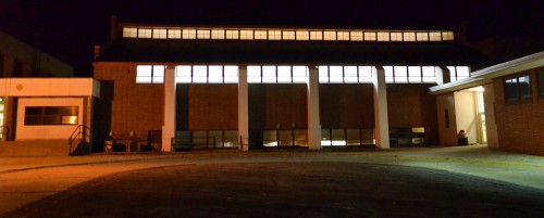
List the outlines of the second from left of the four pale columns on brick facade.
<svg viewBox="0 0 544 218">
<path fill-rule="evenodd" d="M 246 65 L 238 66 L 238 149 L 249 151 L 249 94 Z"/>
</svg>

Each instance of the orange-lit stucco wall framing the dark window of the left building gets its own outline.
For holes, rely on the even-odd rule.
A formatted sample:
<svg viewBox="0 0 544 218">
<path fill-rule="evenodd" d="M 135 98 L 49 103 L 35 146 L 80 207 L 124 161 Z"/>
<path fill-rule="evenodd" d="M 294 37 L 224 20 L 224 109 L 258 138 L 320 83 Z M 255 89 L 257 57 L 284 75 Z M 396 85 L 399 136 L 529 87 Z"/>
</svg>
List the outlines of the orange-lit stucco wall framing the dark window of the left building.
<svg viewBox="0 0 544 218">
<path fill-rule="evenodd" d="M 83 124 L 83 98 L 20 98 L 15 140 L 69 139 L 77 125 L 25 126 L 26 106 L 78 106 L 77 124 Z"/>
</svg>

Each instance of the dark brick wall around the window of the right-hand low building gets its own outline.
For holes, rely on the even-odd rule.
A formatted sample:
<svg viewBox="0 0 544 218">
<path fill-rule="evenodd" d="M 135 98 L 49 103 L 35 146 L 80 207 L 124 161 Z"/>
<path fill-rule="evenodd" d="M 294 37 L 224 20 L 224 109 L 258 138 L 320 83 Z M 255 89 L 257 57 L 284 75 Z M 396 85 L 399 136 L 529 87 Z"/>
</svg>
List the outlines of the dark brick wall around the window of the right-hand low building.
<svg viewBox="0 0 544 218">
<path fill-rule="evenodd" d="M 537 95 L 535 81 L 536 77 L 532 72 L 532 100 L 506 103 L 504 78 L 494 80 L 499 150 L 544 155 L 544 98 Z"/>
</svg>

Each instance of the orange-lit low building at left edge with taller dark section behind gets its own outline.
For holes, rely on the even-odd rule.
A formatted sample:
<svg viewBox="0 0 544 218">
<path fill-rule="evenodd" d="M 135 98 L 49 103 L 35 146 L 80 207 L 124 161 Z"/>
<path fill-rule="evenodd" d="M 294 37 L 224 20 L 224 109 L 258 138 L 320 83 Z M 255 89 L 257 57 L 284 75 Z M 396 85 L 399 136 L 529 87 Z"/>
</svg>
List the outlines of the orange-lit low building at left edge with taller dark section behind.
<svg viewBox="0 0 544 218">
<path fill-rule="evenodd" d="M 0 140 L 67 139 L 70 137 L 70 133 L 65 133 L 67 126 L 60 128 L 59 125 L 64 121 L 70 125 L 83 124 L 81 116 L 83 100 L 73 101 L 73 98 L 92 95 L 90 89 L 82 92 L 82 89 L 90 88 L 88 84 L 91 79 L 87 79 L 89 81 L 83 82 L 87 85 L 82 86 L 82 79 L 67 79 L 73 76 L 72 66 L 0 31 Z M 77 108 L 70 107 L 71 118 L 44 111 L 46 107 L 53 110 L 59 106 Z M 44 123 L 36 123 L 38 117 L 29 118 L 30 111 L 36 113 L 40 111 L 44 121 L 54 124 L 42 126 Z M 58 117 L 53 118 L 53 115 Z M 58 118 L 62 120 L 57 120 Z M 70 128 L 72 129 L 70 131 L 73 131 L 75 127 Z"/>
</svg>

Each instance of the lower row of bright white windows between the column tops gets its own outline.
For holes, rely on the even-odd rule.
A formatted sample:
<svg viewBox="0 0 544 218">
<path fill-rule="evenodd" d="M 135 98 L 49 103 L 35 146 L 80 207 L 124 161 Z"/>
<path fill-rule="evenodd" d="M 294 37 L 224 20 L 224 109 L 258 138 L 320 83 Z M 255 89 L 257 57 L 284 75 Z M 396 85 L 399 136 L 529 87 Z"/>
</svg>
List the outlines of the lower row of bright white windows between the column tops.
<svg viewBox="0 0 544 218">
<path fill-rule="evenodd" d="M 137 84 L 163 84 L 164 65 L 138 65 Z M 387 84 L 434 84 L 436 66 L 383 66 Z M 448 66 L 452 80 L 469 77 L 469 67 Z M 318 66 L 320 84 L 370 84 L 373 66 Z M 308 66 L 248 65 L 247 81 L 250 84 L 305 84 Z M 175 80 L 181 84 L 237 84 L 237 65 L 178 65 Z"/>
</svg>

